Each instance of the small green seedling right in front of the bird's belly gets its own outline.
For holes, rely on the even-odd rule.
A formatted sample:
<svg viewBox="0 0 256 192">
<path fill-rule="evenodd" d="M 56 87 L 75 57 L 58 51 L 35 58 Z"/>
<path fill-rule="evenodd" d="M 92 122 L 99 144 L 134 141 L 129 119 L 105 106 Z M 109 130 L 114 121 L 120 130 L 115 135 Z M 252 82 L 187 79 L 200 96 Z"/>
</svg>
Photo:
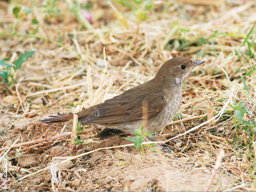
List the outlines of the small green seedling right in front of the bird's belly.
<svg viewBox="0 0 256 192">
<path fill-rule="evenodd" d="M 143 133 L 142 130 L 143 130 L 143 125 L 141 125 L 138 129 L 133 130 L 132 134 L 135 135 L 135 137 L 132 137 L 132 138 L 124 137 L 124 139 L 133 142 L 135 149 L 136 150 L 140 149 L 141 154 L 144 153 L 145 146 L 152 147 L 155 145 L 155 143 L 151 143 L 149 145 L 142 145 L 142 142 L 145 141 L 146 137 L 149 137 L 149 138 L 154 137 L 153 134 L 149 134 L 149 132 Z"/>
</svg>

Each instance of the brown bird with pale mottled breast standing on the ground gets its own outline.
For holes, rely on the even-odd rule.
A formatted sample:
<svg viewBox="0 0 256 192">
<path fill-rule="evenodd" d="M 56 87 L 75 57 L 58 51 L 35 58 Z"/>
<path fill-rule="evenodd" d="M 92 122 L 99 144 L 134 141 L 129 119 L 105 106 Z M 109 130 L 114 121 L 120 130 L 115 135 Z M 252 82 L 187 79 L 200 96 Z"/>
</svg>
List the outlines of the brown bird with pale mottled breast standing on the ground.
<svg viewBox="0 0 256 192">
<path fill-rule="evenodd" d="M 170 124 L 180 108 L 183 82 L 190 71 L 202 63 L 205 61 L 193 61 L 185 57 L 169 59 L 150 81 L 75 113 L 78 122 L 105 126 L 95 136 L 100 139 L 132 134 L 141 125 L 145 126 L 143 130 L 149 134 L 159 132 Z M 58 113 L 39 121 L 56 123 L 72 118 L 73 114 Z"/>
</svg>

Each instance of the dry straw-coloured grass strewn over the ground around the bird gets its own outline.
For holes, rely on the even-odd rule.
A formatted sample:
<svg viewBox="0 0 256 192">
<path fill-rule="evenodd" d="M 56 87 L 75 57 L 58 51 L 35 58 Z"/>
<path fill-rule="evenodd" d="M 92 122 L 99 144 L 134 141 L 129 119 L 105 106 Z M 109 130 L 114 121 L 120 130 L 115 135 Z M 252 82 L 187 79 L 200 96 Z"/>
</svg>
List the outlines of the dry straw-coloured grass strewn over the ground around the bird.
<svg viewBox="0 0 256 192">
<path fill-rule="evenodd" d="M 90 11 L 94 20 L 93 28 L 86 30 L 75 15 L 70 13 L 67 3 L 58 2 L 57 7 L 61 15 L 50 16 L 39 6 L 42 2 L 33 2 L 22 2 L 22 5 L 31 7 L 32 12 L 22 15 L 23 19 L 15 27 L 17 34 L 13 35 L 12 26 L 17 21 L 12 14 L 15 3 L 0 1 L 0 59 L 10 58 L 9 62 L 12 63 L 18 58 L 17 55 L 30 50 L 36 51 L 18 71 L 17 82 L 11 87 L 0 87 L 0 128 L 3 133 L 0 139 L 0 158 L 3 160 L 8 156 L 11 159 L 7 162 L 17 165 L 9 166 L 8 180 L 0 185 L 1 190 L 132 190 L 133 188 L 125 188 L 121 176 L 115 178 L 110 176 L 110 173 L 107 177 L 111 180 L 108 182 L 110 187 L 98 185 L 93 180 L 90 187 L 83 184 L 87 182 L 84 178 L 90 178 L 94 171 L 97 174 L 99 166 L 108 167 L 104 166 L 104 161 L 119 161 L 116 156 L 109 159 L 109 156 L 104 155 L 105 159 L 93 159 L 92 154 L 102 150 L 94 150 L 93 143 L 98 143 L 98 140 L 93 138 L 98 131 L 97 126 L 88 126 L 87 131 L 81 135 L 82 139 L 91 144 L 84 147 L 77 156 L 70 157 L 67 150 L 57 155 L 61 159 L 56 159 L 51 152 L 52 159 L 47 158 L 44 159 L 44 163 L 40 161 L 41 164 L 31 164 L 19 170 L 20 165 L 15 154 L 41 154 L 40 158 L 45 158 L 52 151 L 52 146 L 68 146 L 70 124 L 44 127 L 37 120 L 57 112 L 77 112 L 114 97 L 153 78 L 164 61 L 177 56 L 207 62 L 197 67 L 188 77 L 183 86 L 179 114 L 161 132 L 164 141 L 158 143 L 166 143 L 174 154 L 160 153 L 156 159 L 152 154 L 145 155 L 146 160 L 141 160 L 141 166 L 166 161 L 170 166 L 178 167 L 187 174 L 200 169 L 205 173 L 213 171 L 209 183 L 203 188 L 205 190 L 256 190 L 256 146 L 255 142 L 252 142 L 255 135 L 247 135 L 246 139 L 251 144 L 244 146 L 244 133 L 240 130 L 236 137 L 233 118 L 226 113 L 227 110 L 231 110 L 231 101 L 243 101 L 256 115 L 256 75 L 252 73 L 245 77 L 249 93 L 240 79 L 256 64 L 254 58 L 249 58 L 249 55 L 245 54 L 249 50 L 247 44 L 243 44 L 253 23 L 256 22 L 254 1 L 229 1 L 220 7 L 154 1 L 154 10 L 149 13 L 148 19 L 140 24 L 138 42 L 135 45 L 137 50 L 134 49 L 136 20 L 125 7 L 112 2 L 124 17 L 128 18 L 128 28 L 116 20 L 114 11 L 107 2 L 93 3 Z M 36 29 L 35 25 L 31 25 L 34 18 L 39 23 L 38 31 L 35 35 L 28 35 Z M 215 30 L 218 34 L 213 36 Z M 250 37 L 254 44 L 255 34 L 254 29 Z M 199 38 L 202 38 L 202 41 L 204 38 L 207 42 L 198 43 L 201 41 Z M 176 41 L 170 47 L 170 41 L 173 39 L 185 39 L 188 44 L 179 49 Z M 241 58 L 238 58 L 237 51 Z M 255 46 L 251 47 L 251 51 L 255 54 Z M 8 95 L 12 95 L 10 102 L 6 102 Z M 245 118 L 252 120 L 253 116 L 248 115 Z M 125 149 L 124 146 L 122 149 Z M 222 156 L 217 159 L 220 151 L 223 151 L 223 154 L 221 152 Z M 122 155 L 127 159 L 137 158 L 137 151 L 134 150 L 113 153 L 124 153 Z M 165 157 L 170 159 L 166 160 Z M 186 161 L 179 160 L 184 158 Z M 57 166 L 59 162 L 65 165 L 65 168 L 62 167 L 63 170 L 69 169 L 67 163 L 73 163 L 76 169 L 69 170 L 69 175 L 75 175 L 74 178 L 78 177 L 83 181 L 81 186 L 84 185 L 84 188 L 72 184 L 76 179 L 70 181 L 70 185 L 63 184 L 64 180 L 69 180 L 71 176 L 63 170 L 60 171 L 60 167 Z M 85 173 L 84 167 L 87 164 L 90 164 L 91 171 L 87 170 Z M 127 163 L 128 166 L 132 166 L 132 163 Z M 127 167 L 125 165 L 125 169 Z M 42 182 L 36 182 L 34 186 L 28 184 L 30 178 L 44 178 L 43 175 L 47 175 L 45 171 L 49 171 L 50 168 L 49 175 L 52 175 L 52 178 L 51 182 L 46 182 L 47 185 L 42 179 Z M 76 172 L 77 169 L 81 169 L 79 174 Z M 62 175 L 62 179 L 60 176 L 54 178 L 55 173 Z M 213 180 L 220 179 L 220 175 L 226 175 L 232 181 L 231 185 L 213 185 Z M 65 182 L 67 184 L 67 181 Z M 170 190 L 161 187 L 153 188 Z M 142 187 L 137 190 L 153 188 Z M 185 190 L 176 188 L 179 189 Z M 187 190 L 195 188 L 192 186 Z"/>
</svg>

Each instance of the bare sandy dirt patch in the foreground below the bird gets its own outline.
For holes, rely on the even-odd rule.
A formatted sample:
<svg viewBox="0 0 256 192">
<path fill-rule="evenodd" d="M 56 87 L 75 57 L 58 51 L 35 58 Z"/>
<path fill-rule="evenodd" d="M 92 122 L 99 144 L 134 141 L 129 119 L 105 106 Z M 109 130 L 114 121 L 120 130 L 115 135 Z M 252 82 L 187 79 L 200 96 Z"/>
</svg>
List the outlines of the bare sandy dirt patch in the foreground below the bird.
<svg viewBox="0 0 256 192">
<path fill-rule="evenodd" d="M 54 171 L 51 168 L 51 173 L 47 171 L 43 180 L 34 178 L 32 181 L 37 182 L 41 188 L 51 181 L 58 190 L 202 191 L 211 178 L 211 172 L 206 168 L 192 169 L 189 167 L 190 161 L 184 164 L 174 155 L 165 153 L 141 156 L 134 150 L 102 150 L 78 162 L 79 165 L 73 165 L 68 161 Z M 54 173 L 58 179 L 53 179 Z M 227 175 L 218 173 L 213 182 L 213 186 L 217 187 L 212 190 L 230 187 L 233 181 Z M 27 189 L 38 190 L 35 186 L 27 186 Z"/>
</svg>

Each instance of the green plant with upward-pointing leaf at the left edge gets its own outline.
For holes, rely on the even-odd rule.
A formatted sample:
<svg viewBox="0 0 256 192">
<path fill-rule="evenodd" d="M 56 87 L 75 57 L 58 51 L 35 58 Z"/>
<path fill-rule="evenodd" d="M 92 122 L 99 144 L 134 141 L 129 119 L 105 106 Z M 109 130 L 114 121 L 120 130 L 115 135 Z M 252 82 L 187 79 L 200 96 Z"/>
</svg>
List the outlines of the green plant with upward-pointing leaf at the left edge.
<svg viewBox="0 0 256 192">
<path fill-rule="evenodd" d="M 0 60 L 0 66 L 3 66 L 3 70 L 0 70 L 0 76 L 3 81 L 0 84 L 6 83 L 8 86 L 12 85 L 16 81 L 17 70 L 20 69 L 23 62 L 28 60 L 35 51 L 29 51 L 20 55 L 20 57 L 13 62 L 13 64 L 6 63 L 4 60 Z"/>
</svg>

